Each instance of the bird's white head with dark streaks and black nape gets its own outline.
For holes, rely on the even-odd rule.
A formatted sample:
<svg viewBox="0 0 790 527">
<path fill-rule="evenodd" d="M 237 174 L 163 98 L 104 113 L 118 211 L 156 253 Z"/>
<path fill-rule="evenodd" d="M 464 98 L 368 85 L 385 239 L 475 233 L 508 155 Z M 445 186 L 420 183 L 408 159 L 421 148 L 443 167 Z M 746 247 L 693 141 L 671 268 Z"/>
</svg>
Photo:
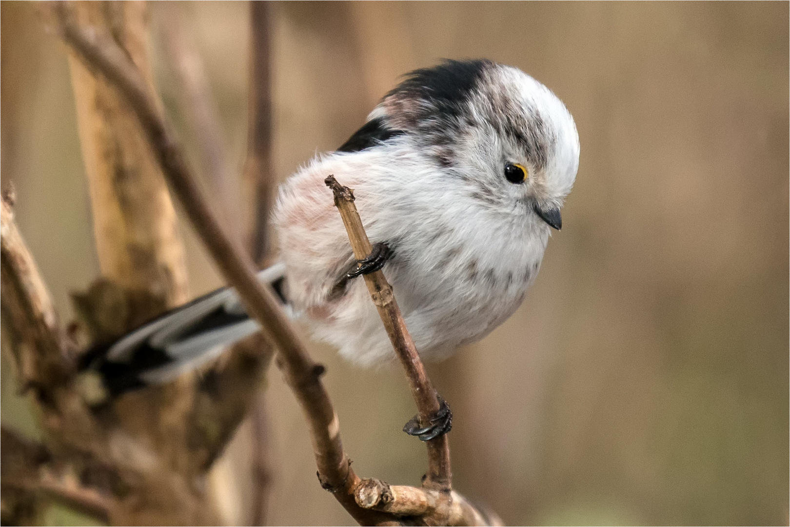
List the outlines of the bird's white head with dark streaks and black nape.
<svg viewBox="0 0 790 527">
<path fill-rule="evenodd" d="M 579 163 L 576 125 L 562 101 L 521 70 L 447 60 L 408 73 L 368 119 L 412 137 L 483 205 L 562 227 L 559 211 Z"/>
</svg>

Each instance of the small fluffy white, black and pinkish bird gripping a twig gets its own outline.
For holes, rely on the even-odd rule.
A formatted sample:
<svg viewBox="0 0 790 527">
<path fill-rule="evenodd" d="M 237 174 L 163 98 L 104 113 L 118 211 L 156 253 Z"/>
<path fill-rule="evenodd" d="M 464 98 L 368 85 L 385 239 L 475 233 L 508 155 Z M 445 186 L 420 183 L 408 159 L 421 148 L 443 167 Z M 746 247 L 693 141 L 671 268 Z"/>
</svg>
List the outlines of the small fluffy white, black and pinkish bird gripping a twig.
<svg viewBox="0 0 790 527">
<path fill-rule="evenodd" d="M 414 70 L 348 141 L 280 186 L 279 259 L 258 279 L 316 340 L 374 367 L 396 356 L 359 276 L 381 269 L 419 355 L 444 359 L 521 305 L 551 229 L 562 228 L 579 152 L 565 104 L 516 67 L 446 59 Z M 363 260 L 329 175 L 354 190 L 373 244 Z M 235 290 L 221 288 L 95 345 L 83 365 L 118 395 L 167 382 L 258 329 Z M 447 430 L 408 432 L 427 440 Z"/>
</svg>

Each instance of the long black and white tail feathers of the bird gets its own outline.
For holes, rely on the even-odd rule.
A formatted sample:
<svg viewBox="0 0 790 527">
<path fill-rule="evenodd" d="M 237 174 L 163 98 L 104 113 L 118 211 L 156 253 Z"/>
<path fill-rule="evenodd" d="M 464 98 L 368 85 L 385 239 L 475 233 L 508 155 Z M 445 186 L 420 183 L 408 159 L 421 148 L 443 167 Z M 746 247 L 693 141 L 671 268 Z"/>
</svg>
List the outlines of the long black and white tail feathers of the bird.
<svg viewBox="0 0 790 527">
<path fill-rule="evenodd" d="M 276 264 L 258 273 L 258 280 L 272 284 L 283 303 L 284 270 L 283 264 Z M 170 381 L 258 329 L 235 289 L 221 288 L 167 311 L 115 342 L 95 345 L 83 356 L 81 369 L 98 372 L 111 395 L 118 395 Z"/>
</svg>

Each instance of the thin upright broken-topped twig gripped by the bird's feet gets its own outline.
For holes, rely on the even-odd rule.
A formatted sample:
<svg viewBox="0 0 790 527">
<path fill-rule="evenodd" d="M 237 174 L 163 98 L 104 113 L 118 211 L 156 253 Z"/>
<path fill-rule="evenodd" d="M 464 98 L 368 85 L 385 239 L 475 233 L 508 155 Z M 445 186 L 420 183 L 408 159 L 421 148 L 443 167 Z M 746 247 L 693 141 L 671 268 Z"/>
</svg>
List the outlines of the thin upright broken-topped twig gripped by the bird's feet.
<svg viewBox="0 0 790 527">
<path fill-rule="evenodd" d="M 337 183 L 333 175 L 326 178 L 326 185 L 332 189 L 335 198 L 335 206 L 340 211 L 343 224 L 348 232 L 348 239 L 351 240 L 351 247 L 358 260 L 366 258 L 371 254 L 371 242 L 367 239 L 367 234 L 359 219 L 359 213 L 354 205 L 354 192 L 348 186 Z M 373 302 L 378 308 L 378 315 L 382 318 L 384 327 L 389 335 L 389 340 L 393 343 L 398 359 L 401 359 L 406 378 L 412 389 L 412 397 L 417 405 L 419 420 L 422 426 L 427 426 L 431 416 L 439 410 L 439 401 L 436 390 L 431 385 L 431 379 L 423 366 L 423 361 L 419 359 L 417 348 L 412 341 L 412 336 L 408 333 L 406 323 L 403 320 L 401 309 L 397 306 L 393 288 L 387 282 L 382 271 L 376 271 L 364 275 L 365 284 L 371 292 Z M 440 435 L 438 438 L 426 442 L 428 449 L 428 474 L 424 483 L 425 487 L 434 490 L 449 491 L 452 488 L 452 471 L 450 469 L 450 442 L 447 435 Z"/>
</svg>

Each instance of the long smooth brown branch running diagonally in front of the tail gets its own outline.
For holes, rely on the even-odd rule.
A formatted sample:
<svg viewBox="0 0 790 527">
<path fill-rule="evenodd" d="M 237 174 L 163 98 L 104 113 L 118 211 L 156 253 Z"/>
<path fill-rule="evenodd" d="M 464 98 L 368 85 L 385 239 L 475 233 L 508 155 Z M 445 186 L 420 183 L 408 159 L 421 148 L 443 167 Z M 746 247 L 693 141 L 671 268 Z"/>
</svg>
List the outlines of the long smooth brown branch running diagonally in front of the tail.
<svg viewBox="0 0 790 527">
<path fill-rule="evenodd" d="M 276 344 L 278 366 L 284 371 L 286 382 L 294 391 L 310 425 L 322 486 L 332 491 L 338 502 L 361 524 L 393 521 L 395 518 L 391 515 L 366 510 L 356 504 L 353 489 L 359 482 L 359 476 L 351 469 L 340 442 L 337 414 L 320 379 L 324 368 L 307 354 L 291 322 L 280 310 L 271 288 L 257 280 L 250 258 L 244 258 L 243 252 L 236 250 L 224 235 L 201 198 L 182 152 L 137 68 L 115 42 L 77 26 L 68 17 L 62 17 L 61 29 L 62 39 L 85 65 L 102 73 L 126 96 L 160 160 L 167 182 L 205 247 L 225 279 L 239 292 L 247 312 L 261 323 L 266 336 Z"/>
</svg>

